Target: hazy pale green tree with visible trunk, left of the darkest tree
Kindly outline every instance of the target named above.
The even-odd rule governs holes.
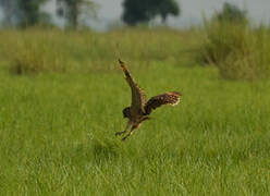
[[[91,0],[57,0],[58,15],[66,20],[68,25],[77,28],[83,16],[96,17],[97,4]]]

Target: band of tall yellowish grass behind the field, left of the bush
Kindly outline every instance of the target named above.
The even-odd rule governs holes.
[[[106,34],[5,30],[0,34],[0,56],[17,74],[102,70],[103,64],[113,69],[112,62],[120,57],[133,62],[148,63],[150,59],[177,64],[187,57],[188,49],[183,46],[194,45],[191,34],[162,28],[123,28]]]

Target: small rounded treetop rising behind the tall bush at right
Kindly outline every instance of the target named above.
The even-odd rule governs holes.
[[[225,2],[223,9],[220,13],[217,13],[217,19],[219,21],[229,21],[229,22],[247,22],[246,17],[247,12],[241,10],[235,4]]]

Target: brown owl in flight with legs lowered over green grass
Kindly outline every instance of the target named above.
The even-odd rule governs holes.
[[[128,119],[127,125],[123,132],[115,133],[115,135],[122,135],[127,132],[130,126],[132,126],[128,134],[122,138],[122,140],[125,140],[127,137],[130,137],[133,134],[133,132],[136,128],[139,127],[139,125],[144,121],[150,119],[149,114],[152,112],[152,110],[155,110],[156,108],[162,105],[171,105],[171,106],[177,105],[182,95],[181,93],[177,93],[177,91],[168,91],[168,93],[155,96],[146,102],[145,93],[134,82],[127,68],[125,66],[125,63],[121,60],[119,60],[119,63],[125,74],[125,79],[128,83],[131,90],[132,90],[132,106],[123,109],[124,118]]]

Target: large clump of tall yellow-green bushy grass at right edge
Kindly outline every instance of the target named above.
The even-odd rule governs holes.
[[[225,78],[257,79],[270,76],[270,35],[265,27],[247,23],[205,23],[206,39],[200,48],[205,62],[214,64]]]

